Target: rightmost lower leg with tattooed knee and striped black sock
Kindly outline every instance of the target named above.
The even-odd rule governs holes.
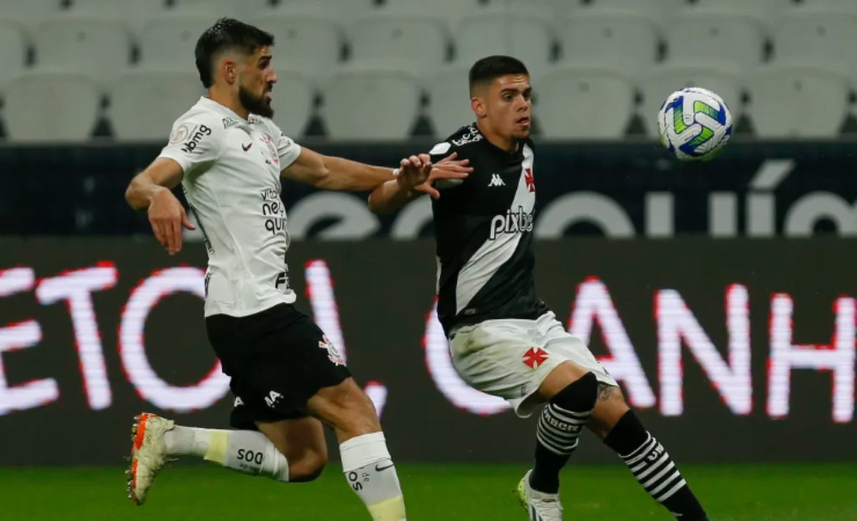
[[[619,387],[601,386],[591,430],[625,460],[645,491],[681,521],[707,521],[703,507],[673,459],[639,421]]]

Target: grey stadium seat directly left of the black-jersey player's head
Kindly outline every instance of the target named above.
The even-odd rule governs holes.
[[[428,121],[434,135],[444,138],[476,117],[470,108],[469,67],[446,69],[431,77],[427,83]]]

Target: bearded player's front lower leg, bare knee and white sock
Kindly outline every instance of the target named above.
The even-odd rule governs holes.
[[[375,521],[405,521],[405,499],[375,405],[351,380],[321,389],[309,399],[314,416],[339,439],[343,472]]]

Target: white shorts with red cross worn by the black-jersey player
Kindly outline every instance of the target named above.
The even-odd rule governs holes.
[[[486,320],[452,333],[452,365],[478,391],[505,398],[521,417],[539,400],[528,399],[562,362],[592,371],[598,381],[617,386],[583,340],[572,337],[553,313],[536,320]]]

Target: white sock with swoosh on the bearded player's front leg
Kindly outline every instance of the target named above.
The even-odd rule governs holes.
[[[374,521],[406,521],[405,499],[384,433],[363,434],[339,446],[342,470]]]

